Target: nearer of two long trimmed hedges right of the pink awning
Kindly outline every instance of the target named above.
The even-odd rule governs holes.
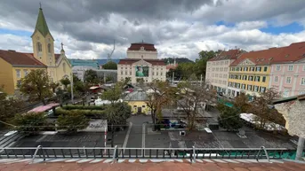
[[[62,108],[56,109],[56,115],[65,115],[68,113],[83,113],[86,117],[94,117],[94,118],[106,118],[106,114],[101,110],[65,110]]]

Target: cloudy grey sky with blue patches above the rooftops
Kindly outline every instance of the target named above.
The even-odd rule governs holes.
[[[303,0],[2,0],[0,49],[32,51],[42,3],[68,58],[125,58],[130,43],[155,43],[159,58],[199,51],[245,51],[305,41]]]

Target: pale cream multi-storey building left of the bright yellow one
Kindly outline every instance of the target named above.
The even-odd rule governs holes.
[[[227,94],[229,65],[241,54],[239,50],[221,51],[216,57],[206,63],[205,82],[211,88]]]

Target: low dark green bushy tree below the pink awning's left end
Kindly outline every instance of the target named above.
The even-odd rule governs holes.
[[[46,125],[46,116],[44,113],[16,114],[13,123],[19,131],[36,134]]]

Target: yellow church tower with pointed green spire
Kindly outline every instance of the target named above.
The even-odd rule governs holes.
[[[31,38],[34,57],[45,66],[48,66],[48,73],[52,76],[53,71],[49,69],[49,66],[55,66],[54,39],[44,19],[44,12],[41,6],[38,12],[35,31]]]

